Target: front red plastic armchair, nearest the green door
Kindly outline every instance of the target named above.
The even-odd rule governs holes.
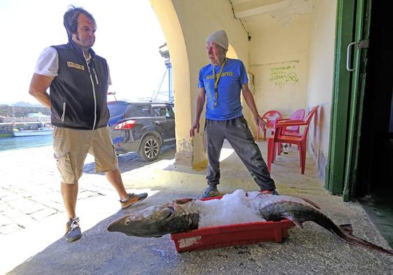
[[[271,170],[272,163],[275,161],[275,151],[278,143],[289,143],[296,144],[299,148],[299,157],[301,162],[301,174],[304,174],[305,169],[305,154],[307,152],[307,136],[308,128],[310,127],[310,122],[312,117],[317,112],[319,106],[312,108],[310,113],[308,113],[305,120],[284,120],[278,121],[275,125],[274,135],[268,140],[268,169]],[[283,132],[285,127],[290,126],[305,126],[303,134],[298,133],[286,133]],[[277,144],[276,144],[277,143]]]

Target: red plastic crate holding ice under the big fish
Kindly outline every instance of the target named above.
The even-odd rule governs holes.
[[[171,234],[171,239],[174,241],[178,253],[225,246],[257,244],[262,241],[280,243],[287,238],[288,229],[293,226],[294,223],[290,220],[220,225]]]

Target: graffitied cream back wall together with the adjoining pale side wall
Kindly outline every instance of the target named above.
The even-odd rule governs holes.
[[[315,0],[312,13],[296,15],[285,25],[270,15],[249,22],[249,69],[254,73],[258,111],[277,110],[285,117],[298,108],[310,111],[319,105],[308,142],[321,178],[329,153],[336,2]]]

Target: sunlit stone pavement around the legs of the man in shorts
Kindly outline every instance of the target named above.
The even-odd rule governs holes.
[[[124,177],[144,166],[173,163],[174,153],[174,146],[166,146],[155,162],[144,162],[137,153],[120,155],[120,171]],[[88,155],[76,209],[83,230],[120,208],[116,192],[104,174],[95,174],[94,169],[94,159]],[[52,146],[0,152],[0,175],[0,274],[3,274],[62,237],[67,216]],[[153,194],[149,190],[130,191]],[[90,209],[96,204],[107,207],[95,213]],[[17,247],[24,242],[31,245],[22,250]]]

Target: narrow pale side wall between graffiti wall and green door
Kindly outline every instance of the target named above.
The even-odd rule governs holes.
[[[337,1],[315,0],[310,17],[307,106],[319,105],[308,136],[310,151],[317,160],[319,175],[329,153],[331,97],[333,92]]]

